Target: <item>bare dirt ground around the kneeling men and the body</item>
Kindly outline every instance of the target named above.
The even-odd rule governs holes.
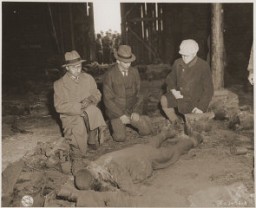
[[[165,119],[157,108],[163,92],[162,84],[161,79],[142,83],[142,90],[148,100],[145,111],[155,124],[155,132],[161,128],[161,122]],[[233,85],[230,90],[239,95],[240,105],[247,106],[245,109],[253,114],[252,91],[244,92],[243,86],[239,84]],[[17,100],[17,96],[12,97],[8,93],[8,96],[3,96],[3,101],[8,105],[3,107],[2,117],[2,172],[21,158],[25,161],[14,185],[14,193],[4,205],[22,206],[21,198],[31,195],[34,198],[33,206],[44,206],[45,199],[49,198],[52,201],[48,200],[48,206],[74,206],[72,202],[54,199],[54,191],[70,175],[61,173],[54,167],[42,169],[34,154],[38,142],[56,142],[62,137],[52,108],[45,107],[46,97],[52,91],[51,81],[44,84],[41,90],[31,91],[34,99],[30,100],[28,106],[24,102],[20,108],[13,108],[16,106],[13,100]],[[25,94],[23,101],[28,100],[27,97],[31,97],[31,93]],[[25,112],[24,109],[28,110]],[[202,144],[183,155],[174,165],[154,171],[150,178],[136,184],[142,196],[133,197],[122,206],[254,207],[253,129],[230,129],[228,119],[213,119],[210,126],[210,131],[202,133]],[[115,143],[110,139],[97,151],[89,150],[88,158],[96,159],[106,152],[136,143],[146,143],[148,140],[131,128],[127,128],[127,131],[129,136],[125,143]],[[232,144],[246,148],[246,153],[231,154]]]

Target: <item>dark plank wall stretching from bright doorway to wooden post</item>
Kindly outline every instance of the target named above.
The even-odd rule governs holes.
[[[137,62],[172,63],[185,38],[195,39],[199,56],[206,59],[210,4],[122,3],[121,7],[124,43],[132,46]]]

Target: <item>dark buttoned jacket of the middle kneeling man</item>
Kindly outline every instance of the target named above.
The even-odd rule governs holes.
[[[110,119],[124,114],[141,113],[140,76],[136,68],[130,67],[124,77],[117,65],[106,72],[103,81],[103,101]]]

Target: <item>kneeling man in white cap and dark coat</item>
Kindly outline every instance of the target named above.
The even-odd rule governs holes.
[[[203,113],[207,111],[213,96],[210,66],[197,56],[195,40],[183,40],[171,73],[167,76],[167,93],[161,97],[161,106],[172,123],[178,121],[177,112]]]

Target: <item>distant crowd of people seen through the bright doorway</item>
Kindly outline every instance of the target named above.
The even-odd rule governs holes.
[[[117,31],[112,32],[111,29],[104,32],[101,31],[96,35],[96,59],[99,64],[112,64],[115,60],[114,51],[117,51],[121,44],[121,35]]]

